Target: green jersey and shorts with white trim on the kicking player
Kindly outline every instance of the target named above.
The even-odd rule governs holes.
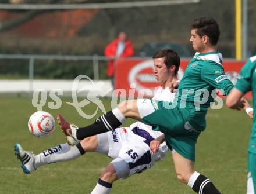
[[[205,129],[205,115],[216,96],[212,91],[222,89],[223,94],[228,94],[232,88],[223,70],[221,53],[195,53],[173,103],[151,99],[137,101],[137,107],[144,123],[159,127],[165,134],[168,148],[195,161],[195,144]]]

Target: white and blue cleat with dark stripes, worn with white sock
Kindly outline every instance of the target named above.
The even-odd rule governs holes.
[[[22,163],[23,172],[30,174],[33,171],[37,170],[34,167],[34,154],[32,152],[25,151],[20,144],[14,145],[15,155],[17,159]]]

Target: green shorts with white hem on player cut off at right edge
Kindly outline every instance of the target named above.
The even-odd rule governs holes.
[[[253,181],[254,191],[256,189],[256,154],[253,152],[248,152],[248,182]],[[250,183],[249,183],[250,184]]]

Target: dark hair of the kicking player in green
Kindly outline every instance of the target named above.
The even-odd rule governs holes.
[[[219,41],[219,24],[212,17],[200,17],[194,19],[191,23],[191,29],[197,29],[197,34],[202,36],[207,35],[210,39],[210,43],[215,46]]]

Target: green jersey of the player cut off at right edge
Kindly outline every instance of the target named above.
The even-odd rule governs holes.
[[[234,87],[243,94],[247,91],[253,92],[253,108],[256,109],[256,56],[251,57],[240,71],[240,77]],[[253,127],[251,129],[251,139],[248,151],[256,153],[256,119],[255,111],[253,117]]]

